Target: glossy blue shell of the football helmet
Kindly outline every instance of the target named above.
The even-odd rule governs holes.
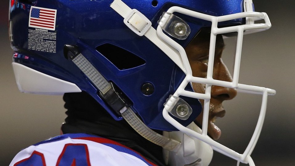
[[[181,6],[214,16],[243,12],[242,0],[123,0],[123,2],[131,9],[143,13],[152,21],[154,28],[157,27],[157,21],[162,13],[172,6]],[[72,61],[64,58],[64,45],[76,45],[102,76],[114,83],[127,96],[131,101],[131,108],[148,127],[165,131],[177,130],[163,118],[162,110],[166,99],[175,92],[185,73],[146,37],[132,32],[123,23],[123,18],[110,8],[111,3],[112,0],[15,1],[10,8],[13,34],[11,45],[19,56],[14,57],[14,61],[76,84],[99,102],[114,119],[121,120],[122,117],[99,97],[98,89],[85,74]],[[56,53],[28,48],[28,31],[35,29],[28,27],[31,6],[56,9],[54,31]],[[191,34],[187,39],[175,39],[183,47],[186,47],[202,27],[211,24],[205,20],[177,13],[175,15],[184,19],[191,28]],[[222,23],[220,26],[243,24],[243,22],[244,19],[241,18]],[[118,66],[118,63],[120,64],[118,59],[122,60],[123,66]],[[142,91],[143,85],[147,83],[154,89],[148,95]],[[187,90],[193,91],[190,85],[187,86]],[[181,98],[193,109],[189,119],[177,119],[182,125],[187,126],[201,113],[202,106],[197,99]]]

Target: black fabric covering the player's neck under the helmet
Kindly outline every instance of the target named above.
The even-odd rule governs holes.
[[[165,166],[162,147],[143,138],[125,120],[114,120],[86,92],[65,93],[64,101],[68,115],[61,127],[64,134],[86,133],[111,139],[139,152],[147,160]]]

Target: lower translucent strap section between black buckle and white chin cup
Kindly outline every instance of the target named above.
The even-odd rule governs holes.
[[[136,131],[138,132],[143,138],[155,143],[168,151],[177,151],[180,147],[181,143],[160,135],[147,127],[131,110],[130,107],[123,107],[120,110],[123,118],[127,121],[127,123]]]

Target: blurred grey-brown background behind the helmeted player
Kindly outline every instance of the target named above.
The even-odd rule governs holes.
[[[239,83],[276,89],[260,139],[252,153],[257,166],[295,165],[295,1],[253,0],[256,11],[272,22],[268,31],[244,36]],[[9,165],[23,148],[60,134],[65,109],[62,96],[20,93],[11,67],[13,51],[8,38],[9,1],[0,6],[0,165]],[[235,38],[225,39],[223,60],[231,70]],[[217,120],[220,143],[242,153],[254,131],[260,95],[239,94],[225,102],[226,116]],[[235,160],[214,152],[210,164],[236,165]],[[241,164],[246,165],[246,164]]]

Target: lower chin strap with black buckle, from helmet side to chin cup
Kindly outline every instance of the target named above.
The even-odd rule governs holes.
[[[108,103],[113,110],[119,110],[118,114],[122,115],[135,131],[143,136],[143,138],[167,149],[168,151],[178,150],[181,145],[179,141],[160,135],[147,127],[129,107],[127,99],[118,92],[118,89],[116,89],[112,83],[108,82],[81,53],[73,50],[74,49],[70,49],[70,51],[67,51],[66,55],[74,52],[73,56],[70,54],[69,58],[99,89],[99,95],[105,100],[105,102]]]

